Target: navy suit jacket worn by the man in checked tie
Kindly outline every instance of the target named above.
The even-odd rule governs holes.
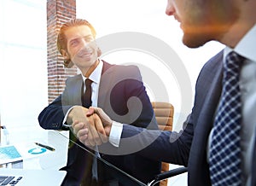
[[[165,160],[173,164],[188,166],[188,182],[192,186],[211,185],[207,164],[207,141],[212,130],[214,113],[222,90],[223,51],[215,55],[202,68],[195,86],[195,103],[192,113],[184,123],[184,131],[145,131],[143,143],[148,137],[159,136],[148,148],[139,153],[153,160]],[[125,125],[122,137],[131,137],[142,133],[142,129]],[[137,140],[140,142],[139,140]],[[120,143],[121,148],[125,143]],[[123,147],[122,147],[123,146]],[[256,143],[254,155],[256,155]],[[252,176],[255,186],[256,159],[253,158]]]

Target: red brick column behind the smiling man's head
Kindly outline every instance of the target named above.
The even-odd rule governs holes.
[[[47,0],[47,63],[48,101],[52,102],[65,88],[68,76],[77,73],[75,67],[63,66],[63,58],[56,46],[57,33],[61,24],[76,18],[76,0]]]

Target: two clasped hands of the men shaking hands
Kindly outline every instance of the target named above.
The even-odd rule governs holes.
[[[113,120],[102,108],[74,107],[68,114],[73,133],[86,146],[96,146],[108,142]]]

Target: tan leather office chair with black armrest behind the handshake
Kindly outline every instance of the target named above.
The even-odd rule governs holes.
[[[151,102],[154,109],[155,119],[160,130],[172,131],[172,122],[174,107],[169,102]],[[169,171],[169,163],[162,162],[161,173],[148,183],[148,186],[153,186],[155,183],[160,183],[160,186],[167,186],[169,177],[174,177],[178,174],[188,171],[187,167],[179,167]]]

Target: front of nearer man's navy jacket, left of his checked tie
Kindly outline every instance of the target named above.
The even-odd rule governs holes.
[[[195,105],[189,121],[195,125],[195,134],[189,154],[189,183],[191,185],[208,185],[210,182],[207,142],[222,90],[222,61],[222,52],[208,61],[196,85],[197,95],[195,95]]]

